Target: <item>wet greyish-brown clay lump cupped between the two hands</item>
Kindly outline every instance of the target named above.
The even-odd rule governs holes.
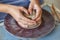
[[[23,13],[23,12],[22,12]],[[41,14],[40,14],[41,15]],[[24,17],[26,17],[26,18],[28,18],[28,19],[30,19],[30,20],[33,20],[33,19],[35,19],[35,17],[36,17],[36,11],[35,10],[33,10],[33,12],[30,14],[30,15],[27,15],[26,13],[23,13],[23,16]],[[34,25],[28,25],[28,27],[23,27],[23,28],[26,28],[26,29],[33,29],[33,28],[37,28],[37,27],[39,27],[40,26],[40,24],[41,24],[41,19],[39,20],[39,22],[36,22],[36,24],[34,24]],[[24,24],[23,24],[24,25]],[[22,26],[21,26],[22,27]]]

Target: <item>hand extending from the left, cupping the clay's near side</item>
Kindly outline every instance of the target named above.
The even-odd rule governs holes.
[[[8,5],[8,13],[17,21],[20,26],[28,28],[28,25],[36,24],[35,21],[24,17],[21,11],[25,12],[28,15],[28,11],[24,7]]]

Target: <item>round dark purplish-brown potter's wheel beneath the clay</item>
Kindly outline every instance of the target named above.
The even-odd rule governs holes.
[[[55,21],[49,12],[43,9],[42,11],[42,24],[35,29],[21,28],[10,15],[5,18],[5,28],[8,32],[18,37],[35,38],[45,36],[54,29]]]

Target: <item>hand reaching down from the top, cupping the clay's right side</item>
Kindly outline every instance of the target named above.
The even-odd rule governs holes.
[[[36,22],[41,22],[42,9],[38,0],[31,0],[28,11],[31,14],[33,10],[36,10],[36,17],[33,20]]]

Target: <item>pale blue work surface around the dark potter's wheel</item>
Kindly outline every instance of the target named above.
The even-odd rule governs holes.
[[[50,12],[49,7],[45,6],[44,9]],[[0,40],[22,40],[22,39],[16,38],[11,34],[9,34],[4,28],[4,22],[2,22],[0,23]],[[55,25],[55,29],[45,37],[37,38],[37,39],[27,38],[23,40],[60,40],[60,23],[57,23]]]

